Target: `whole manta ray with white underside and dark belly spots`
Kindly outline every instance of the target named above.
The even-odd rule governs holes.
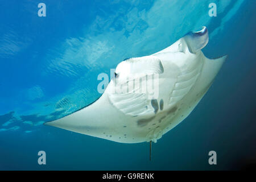
[[[188,117],[224,63],[226,56],[204,56],[208,39],[203,27],[153,55],[122,61],[97,101],[45,125],[121,143],[156,142]],[[158,96],[141,92],[154,79]]]

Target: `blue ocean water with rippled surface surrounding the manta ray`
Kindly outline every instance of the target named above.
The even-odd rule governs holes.
[[[1,170],[240,169],[256,161],[254,0],[0,2]],[[217,16],[209,16],[209,3]],[[158,143],[125,144],[43,123],[98,97],[99,73],[207,26],[209,58],[228,55],[208,93]],[[38,164],[38,151],[47,164]],[[210,166],[208,152],[217,152]]]

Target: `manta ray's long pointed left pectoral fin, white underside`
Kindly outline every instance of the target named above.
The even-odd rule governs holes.
[[[63,118],[46,122],[44,125],[115,142],[144,142],[143,134],[130,129],[131,117],[125,117],[122,112],[109,103],[107,90],[111,86],[113,85],[110,82],[102,96],[93,104]]]

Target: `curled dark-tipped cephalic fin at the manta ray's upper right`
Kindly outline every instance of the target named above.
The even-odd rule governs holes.
[[[207,27],[203,27],[202,30],[197,32],[189,32],[184,36],[184,40],[187,43],[189,52],[196,53],[208,44],[209,35]]]

